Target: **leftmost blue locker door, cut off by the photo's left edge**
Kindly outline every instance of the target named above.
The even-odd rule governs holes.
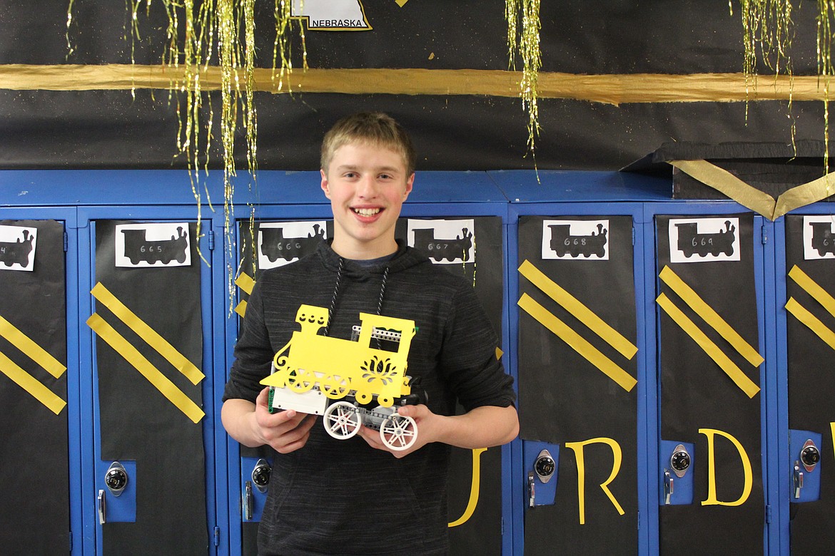
[[[0,545],[7,554],[82,549],[78,365],[68,350],[76,338],[67,285],[74,220],[68,209],[0,209]]]

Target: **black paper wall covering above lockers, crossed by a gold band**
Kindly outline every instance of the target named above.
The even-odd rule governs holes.
[[[0,5],[0,64],[130,63],[124,2],[14,0]],[[168,20],[162,3],[144,3],[134,61],[160,63]],[[507,69],[502,0],[362,0],[373,30],[306,32],[311,68]],[[261,67],[271,66],[272,2],[256,2]],[[816,71],[815,5],[798,4],[794,73]],[[544,72],[738,73],[743,63],[741,8],[726,0],[559,0],[542,3]],[[293,33],[294,66],[301,44]],[[772,73],[760,68],[762,74]],[[215,120],[219,93],[212,93]],[[411,132],[418,169],[533,168],[526,155],[527,116],[515,98],[439,95],[256,93],[262,169],[316,169],[322,133],[361,109],[391,113]],[[632,103],[611,106],[540,99],[540,169],[615,170],[668,142],[790,142],[823,137],[822,102]],[[175,158],[175,108],[166,91],[0,90],[2,168],[183,168]],[[215,133],[215,136],[218,136]],[[242,143],[242,142],[240,142]],[[213,153],[220,165],[220,153]],[[245,153],[237,153],[245,167]]]

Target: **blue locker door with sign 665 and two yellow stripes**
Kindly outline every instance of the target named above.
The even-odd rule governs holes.
[[[116,219],[125,214],[135,219]],[[216,550],[211,279],[200,261],[210,234],[199,240],[192,217],[190,208],[88,213],[82,319],[94,380],[97,553]]]

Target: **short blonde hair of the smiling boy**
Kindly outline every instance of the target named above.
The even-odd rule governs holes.
[[[321,142],[321,169],[327,172],[333,153],[347,143],[367,143],[399,154],[406,165],[406,175],[415,171],[417,153],[412,139],[394,118],[382,112],[361,112],[342,118],[325,133]]]

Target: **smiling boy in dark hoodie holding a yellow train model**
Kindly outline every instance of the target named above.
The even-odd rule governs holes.
[[[252,291],[221,417],[238,442],[277,452],[258,531],[262,555],[445,554],[450,446],[497,446],[518,433],[513,380],[472,286],[394,237],[415,161],[407,133],[387,115],[337,122],[321,148],[332,241],[261,273]],[[267,410],[260,381],[296,330],[302,303],[328,308],[334,338],[350,338],[359,313],[415,322],[408,374],[428,402],[398,409],[417,423],[410,448],[393,451],[365,427],[337,440],[314,426],[316,416]],[[456,402],[465,413],[455,414]]]

